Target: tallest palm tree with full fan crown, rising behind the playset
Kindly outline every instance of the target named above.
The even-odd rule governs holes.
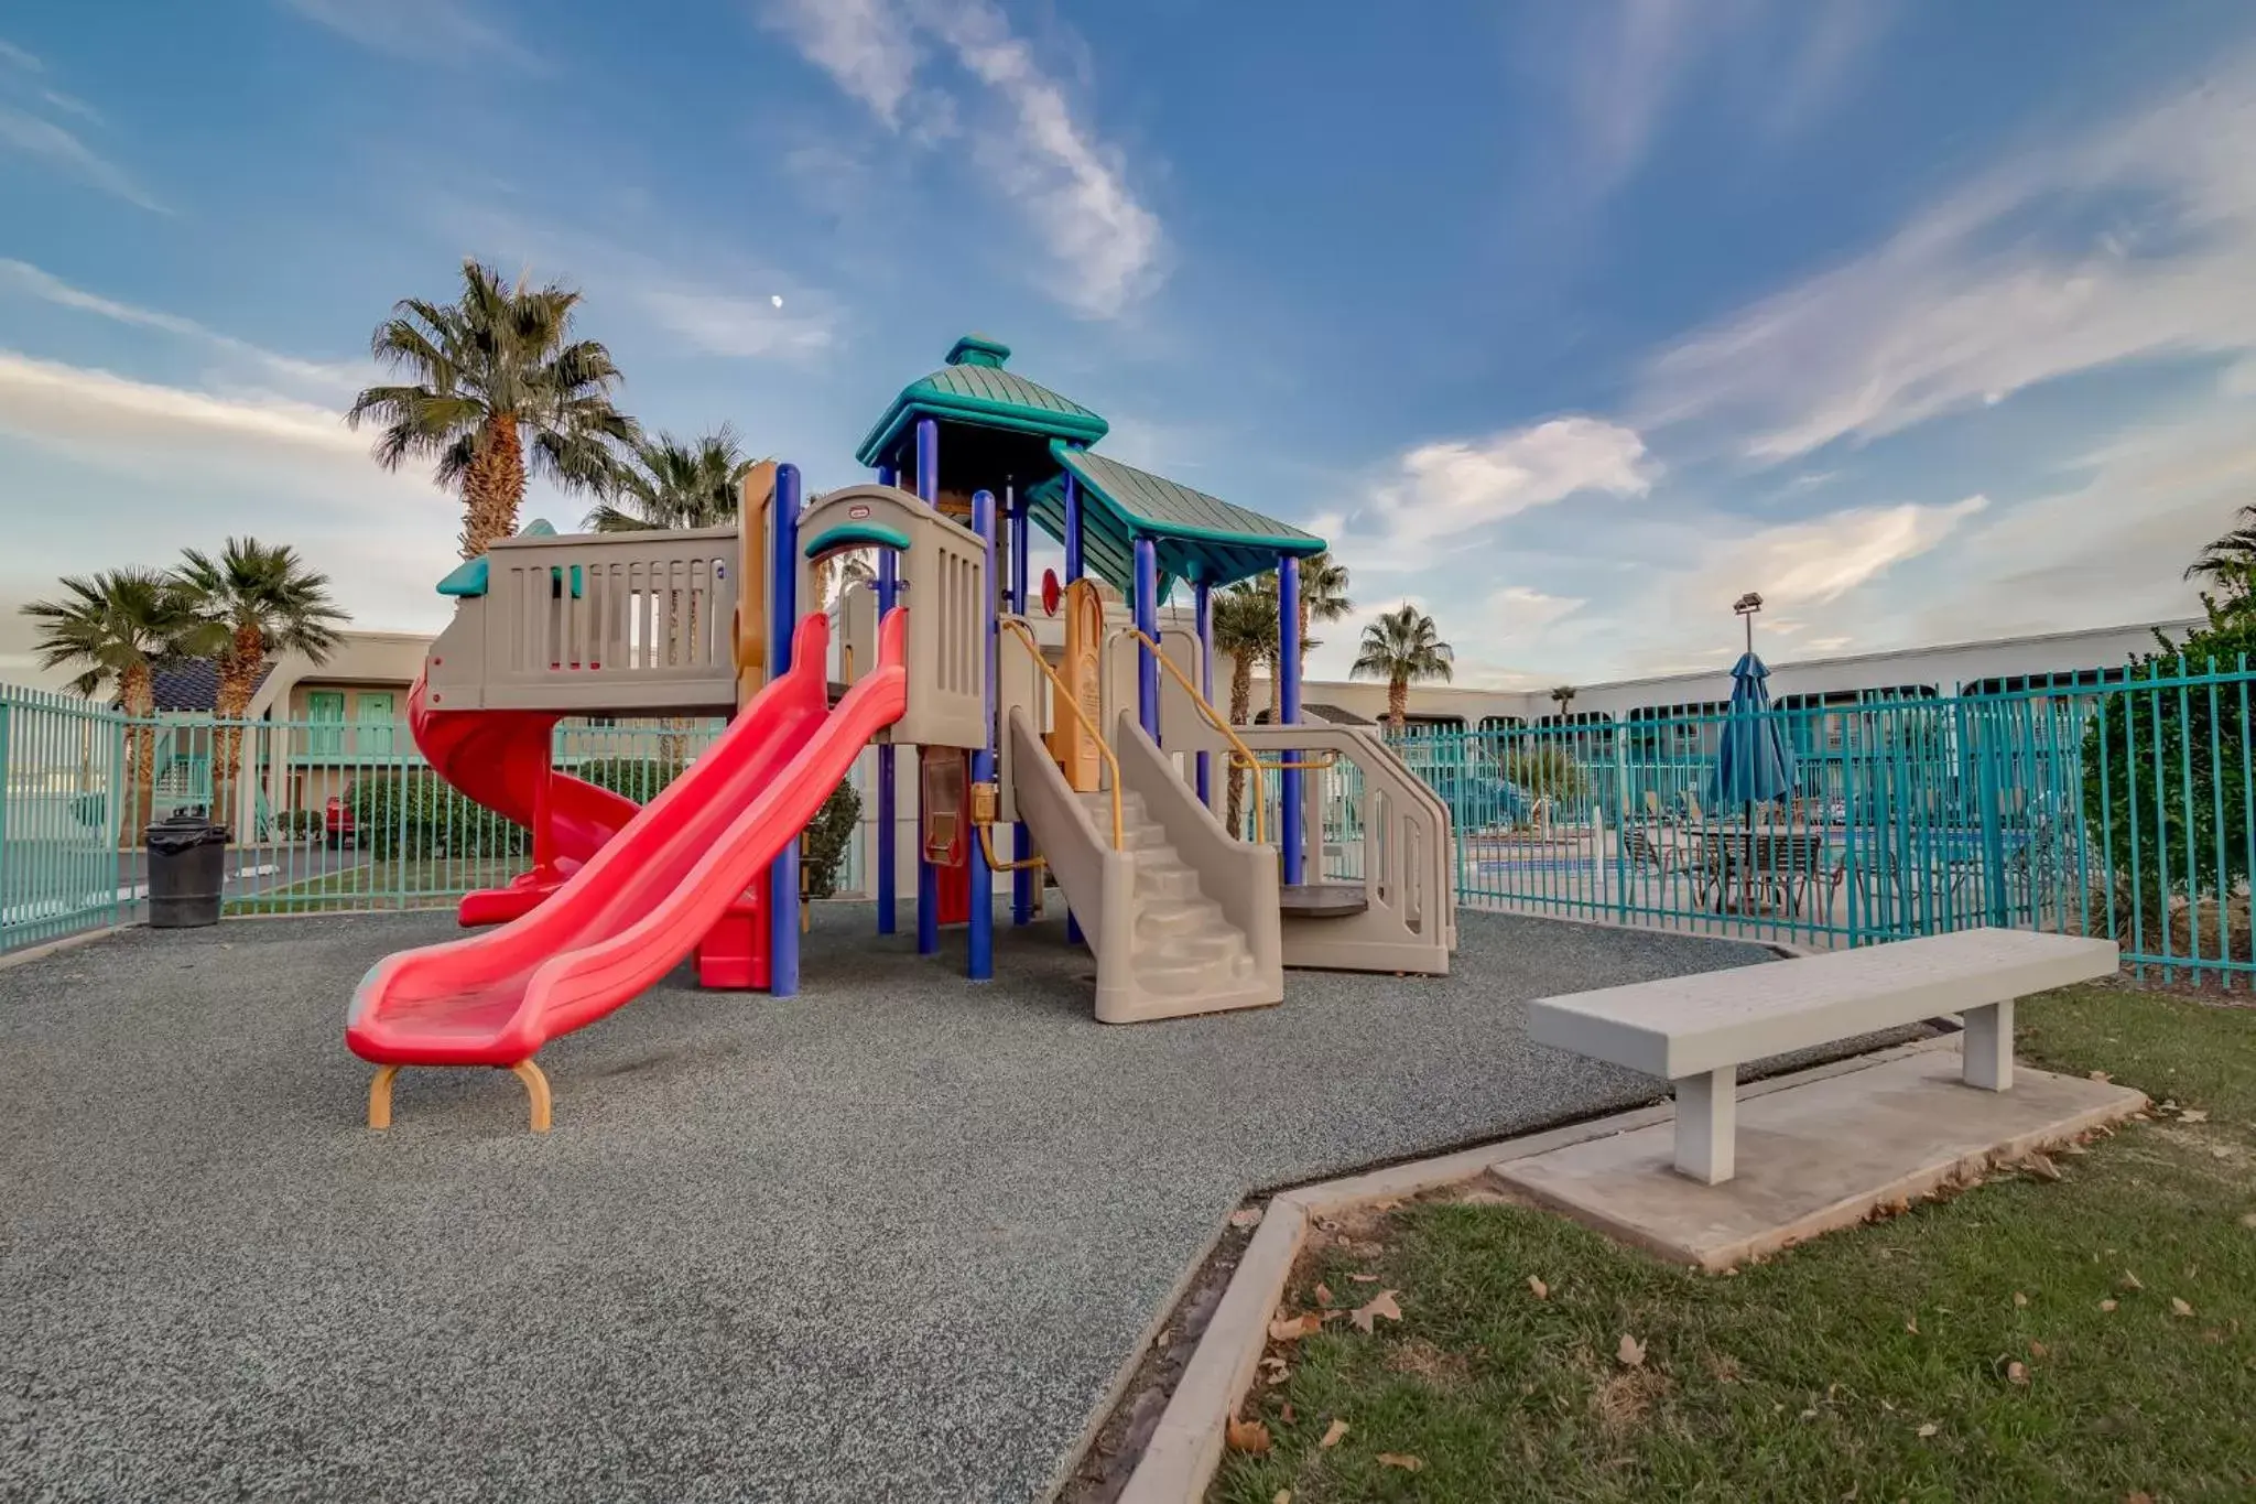
[[[429,458],[440,485],[462,489],[465,559],[517,532],[528,465],[566,492],[600,494],[616,449],[641,437],[611,406],[611,352],[571,338],[578,304],[575,289],[505,286],[490,266],[462,262],[458,302],[402,298],[370,338],[377,363],[408,381],[363,390],[345,422],[384,424],[384,469]]]

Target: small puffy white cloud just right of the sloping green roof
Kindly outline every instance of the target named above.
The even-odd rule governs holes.
[[[1410,550],[1577,494],[1642,496],[1658,467],[1636,431],[1602,417],[1554,417],[1487,440],[1405,451],[1354,519],[1381,550]]]

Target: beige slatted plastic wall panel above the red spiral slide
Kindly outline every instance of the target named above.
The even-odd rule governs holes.
[[[431,645],[447,710],[733,715],[735,528],[501,539]],[[578,570],[580,591],[571,589]]]

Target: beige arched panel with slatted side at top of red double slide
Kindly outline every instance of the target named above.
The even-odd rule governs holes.
[[[893,528],[909,539],[900,557],[900,604],[909,609],[909,708],[882,737],[918,746],[986,746],[990,645],[981,602],[993,589],[986,541],[891,485],[826,492],[799,514],[801,548],[848,523]],[[799,559],[799,598],[814,600],[814,566]]]

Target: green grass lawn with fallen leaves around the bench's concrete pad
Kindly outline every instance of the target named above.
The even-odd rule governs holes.
[[[2021,1019],[2024,1060],[2154,1121],[1730,1276],[1478,1191],[1313,1238],[1281,1315],[1401,1319],[1272,1344],[1241,1412],[1270,1450],[1209,1497],[2256,1499],[2256,1010]]]

